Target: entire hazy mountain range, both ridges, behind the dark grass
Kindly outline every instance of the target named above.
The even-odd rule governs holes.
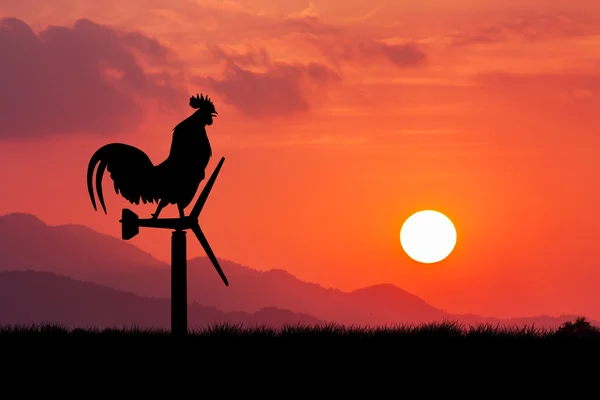
[[[258,271],[219,262],[229,287],[206,257],[188,260],[190,326],[382,325],[450,319],[556,327],[576,317],[499,320],[453,315],[391,284],[343,292],[301,281],[284,270]],[[31,214],[0,216],[0,324],[44,320],[168,327],[169,296],[170,266],[130,243],[81,225],[49,226]]]

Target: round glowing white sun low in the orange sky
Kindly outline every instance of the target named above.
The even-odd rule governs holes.
[[[454,250],[456,228],[450,218],[438,211],[419,211],[402,225],[400,244],[413,260],[433,264],[444,260]]]

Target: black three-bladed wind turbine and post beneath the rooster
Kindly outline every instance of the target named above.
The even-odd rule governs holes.
[[[124,208],[121,220],[119,221],[121,223],[121,236],[123,240],[129,240],[136,236],[140,232],[141,227],[173,230],[171,235],[171,333],[173,335],[185,336],[188,332],[186,230],[190,229],[194,233],[223,280],[223,283],[225,283],[225,286],[229,286],[227,277],[221,269],[219,261],[210,248],[208,240],[204,236],[198,222],[200,212],[204,207],[204,203],[206,203],[206,199],[208,199],[208,195],[212,190],[224,161],[225,157],[222,157],[206,182],[204,189],[202,189],[200,196],[198,196],[198,200],[194,204],[190,215],[182,218],[140,219],[136,213]]]

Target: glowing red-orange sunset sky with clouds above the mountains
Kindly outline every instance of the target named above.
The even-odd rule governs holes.
[[[120,237],[131,205],[106,190],[93,210],[92,153],[162,161],[208,93],[219,257],[451,312],[600,318],[597,1],[0,0],[0,17],[0,214]],[[458,230],[430,266],[398,239],[424,208]],[[168,260],[169,235],[131,242]]]

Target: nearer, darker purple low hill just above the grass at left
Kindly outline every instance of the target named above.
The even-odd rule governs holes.
[[[58,323],[70,327],[169,329],[168,298],[147,298],[51,272],[0,272],[0,325]],[[190,328],[215,323],[267,325],[321,324],[316,318],[274,307],[256,313],[224,313],[197,303],[188,307]]]

